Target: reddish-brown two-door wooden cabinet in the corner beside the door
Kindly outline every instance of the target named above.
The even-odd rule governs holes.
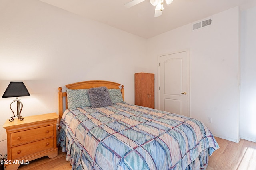
[[[135,104],[155,107],[155,75],[152,73],[135,73]]]

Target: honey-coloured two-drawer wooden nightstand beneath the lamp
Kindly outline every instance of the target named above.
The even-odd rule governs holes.
[[[58,156],[56,124],[58,115],[48,113],[7,120],[3,127],[7,133],[6,170],[16,170],[20,164],[43,156]]]

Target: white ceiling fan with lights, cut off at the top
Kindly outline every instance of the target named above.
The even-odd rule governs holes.
[[[145,0],[132,0],[131,2],[124,4],[124,6],[127,8],[131,8],[132,6],[137,5],[143,1]],[[169,5],[172,3],[173,0],[165,0],[165,1],[166,1],[166,4]],[[164,9],[164,0],[150,0],[150,4],[153,6],[156,6],[155,17],[162,15],[163,9]]]

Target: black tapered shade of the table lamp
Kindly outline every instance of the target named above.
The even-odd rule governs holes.
[[[2,98],[30,96],[28,89],[23,82],[10,82]]]

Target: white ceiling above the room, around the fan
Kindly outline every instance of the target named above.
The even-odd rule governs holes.
[[[132,8],[131,0],[40,0],[85,18],[96,20],[134,35],[150,38],[218,12],[240,6],[256,6],[256,0],[174,0],[164,3],[161,16],[154,17],[154,6],[145,0]]]

